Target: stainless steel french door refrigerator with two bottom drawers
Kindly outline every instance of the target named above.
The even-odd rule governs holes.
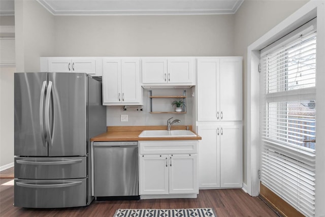
[[[15,73],[14,80],[14,205],[89,205],[89,139],[106,131],[101,82],[85,73]]]

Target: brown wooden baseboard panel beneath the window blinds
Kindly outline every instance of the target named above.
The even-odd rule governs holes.
[[[301,212],[288,204],[261,182],[259,183],[259,196],[261,196],[270,206],[276,209],[282,216],[304,217]]]

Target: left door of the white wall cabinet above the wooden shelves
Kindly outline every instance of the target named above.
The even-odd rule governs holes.
[[[143,58],[142,83],[167,83],[167,58]]]

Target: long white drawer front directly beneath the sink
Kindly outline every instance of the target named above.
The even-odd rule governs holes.
[[[197,153],[198,141],[140,141],[140,154]]]

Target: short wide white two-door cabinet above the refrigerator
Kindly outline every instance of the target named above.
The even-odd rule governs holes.
[[[102,61],[97,57],[41,57],[42,72],[76,72],[102,76]]]

